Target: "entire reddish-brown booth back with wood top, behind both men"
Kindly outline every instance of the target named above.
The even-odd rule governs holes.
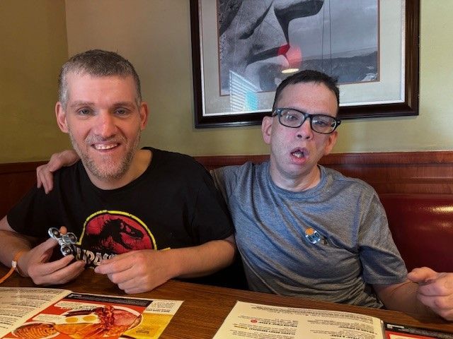
[[[267,158],[267,155],[248,155],[197,157],[197,160],[212,169]],[[379,192],[394,241],[408,270],[428,266],[453,272],[452,151],[334,154],[324,161],[345,175],[365,180]],[[34,184],[35,168],[43,163],[0,164],[1,215]],[[406,193],[384,193],[400,191]],[[240,258],[236,258],[233,266],[206,280],[205,283],[214,285],[246,288]]]

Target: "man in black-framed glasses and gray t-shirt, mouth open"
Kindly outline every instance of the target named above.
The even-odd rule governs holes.
[[[334,79],[295,73],[261,125],[270,160],[212,172],[249,287],[452,320],[453,274],[408,274],[374,189],[318,165],[336,143],[338,105]]]

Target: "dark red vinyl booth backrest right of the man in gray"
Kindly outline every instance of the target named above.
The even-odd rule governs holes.
[[[380,194],[408,270],[453,272],[453,194]]]

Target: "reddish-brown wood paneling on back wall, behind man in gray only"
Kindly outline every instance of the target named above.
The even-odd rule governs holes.
[[[208,169],[262,162],[268,155],[195,157]],[[321,159],[348,177],[364,180],[377,193],[453,194],[453,151],[335,153]]]

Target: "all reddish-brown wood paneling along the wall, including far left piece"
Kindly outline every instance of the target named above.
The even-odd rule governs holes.
[[[207,169],[262,162],[268,155],[195,157]],[[36,182],[35,169],[45,162],[0,164],[0,218]],[[357,177],[383,193],[453,194],[453,151],[335,153],[321,165]]]

